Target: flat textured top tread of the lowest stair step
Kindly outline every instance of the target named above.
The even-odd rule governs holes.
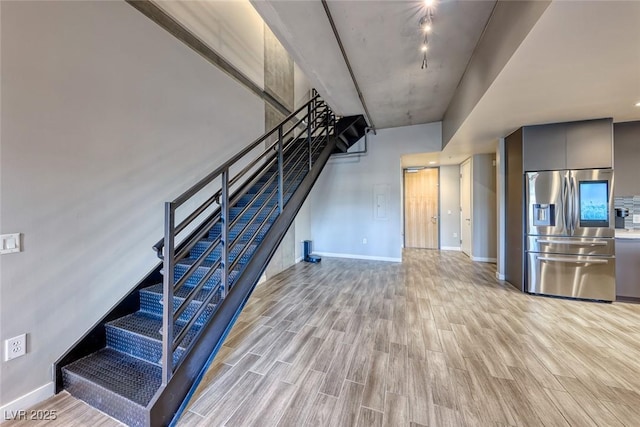
[[[160,387],[162,377],[158,365],[110,348],[98,350],[63,370],[145,407]]]

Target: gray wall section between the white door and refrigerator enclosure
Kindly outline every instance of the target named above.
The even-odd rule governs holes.
[[[496,156],[477,154],[471,159],[473,237],[471,258],[476,261],[496,261],[497,257],[497,202]]]

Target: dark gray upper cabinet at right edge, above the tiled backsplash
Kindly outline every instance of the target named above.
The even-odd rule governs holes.
[[[640,122],[614,123],[613,162],[614,194],[618,197],[640,194]]]

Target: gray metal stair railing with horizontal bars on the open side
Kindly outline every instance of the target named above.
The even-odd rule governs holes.
[[[298,118],[298,115],[306,109],[306,112],[302,118],[299,118],[296,123],[291,124],[293,119]],[[162,384],[166,385],[171,380],[173,372],[179,366],[180,361],[174,361],[174,351],[180,345],[180,342],[186,337],[190,328],[195,324],[198,318],[204,314],[204,310],[208,304],[212,301],[214,294],[220,292],[220,298],[224,299],[226,293],[229,291],[229,274],[232,271],[231,268],[236,265],[239,258],[236,258],[233,263],[229,262],[230,249],[236,242],[232,242],[229,239],[230,231],[230,215],[229,209],[231,207],[230,202],[237,202],[239,197],[248,191],[258,179],[265,173],[267,168],[273,167],[277,164],[277,204],[269,211],[269,215],[272,215],[274,209],[277,208],[277,213],[281,213],[284,207],[284,152],[290,148],[293,148],[296,140],[295,135],[285,141],[295,129],[299,127],[303,128],[302,134],[306,132],[304,139],[306,140],[304,149],[308,150],[308,167],[311,170],[312,158],[314,154],[313,144],[318,138],[329,137],[331,126],[335,127],[335,116],[329,109],[329,107],[321,100],[317,93],[313,93],[311,99],[295,110],[289,116],[287,116],[282,122],[275,126],[264,135],[260,136],[245,148],[240,150],[237,154],[231,157],[229,160],[218,166],[214,171],[207,174],[204,178],[199,180],[196,184],[191,186],[188,190],[177,196],[171,202],[165,202],[164,213],[164,238],[156,243],[153,247],[156,250],[158,256],[163,260],[163,310],[162,310]],[[285,131],[285,127],[291,126]],[[249,153],[251,153],[259,144],[268,140],[268,138],[277,135],[277,139],[268,144],[268,146],[260,154],[256,156],[252,161],[242,169],[235,173],[233,177],[230,176],[230,169],[240,160],[244,159]],[[302,145],[298,144],[298,150],[302,149]],[[308,147],[308,148],[307,148]],[[304,153],[304,151],[302,152]],[[264,164],[258,168],[260,161],[264,161]],[[238,184],[247,173],[254,171],[253,177],[250,177],[240,184],[240,188],[236,189],[238,196],[231,199],[231,187],[234,184]],[[291,173],[289,171],[288,173]],[[195,195],[199,194],[209,184],[212,184],[216,179],[220,179],[220,189],[213,192],[212,195],[206,198],[204,202],[201,202],[193,211],[187,215],[179,224],[176,224],[176,210],[192,199]],[[273,178],[272,178],[273,179]],[[275,189],[274,189],[275,191]],[[214,214],[210,214],[208,218],[204,219],[201,223],[196,223],[196,219],[200,217],[209,207],[214,203],[218,204],[218,209]],[[238,217],[236,217],[237,220]],[[197,243],[207,232],[208,228],[213,226],[216,222],[220,221],[221,234],[215,240],[220,243],[221,256],[220,259],[213,265],[204,277],[198,279],[198,284],[189,292],[187,297],[177,307],[174,306],[174,292],[185,284],[186,280],[201,266],[205,259],[213,252],[217,243],[212,243],[208,249],[206,249],[198,259],[187,268],[184,275],[178,280],[174,279],[174,270],[176,263],[187,254],[193,245]],[[234,220],[235,221],[235,220]],[[263,223],[264,224],[264,223]],[[192,231],[192,236],[183,239],[178,247],[176,245],[176,238],[179,233],[186,230],[189,226],[195,226],[195,231]],[[261,225],[260,227],[262,227]],[[245,225],[246,227],[246,225]],[[257,234],[256,234],[257,235]],[[256,235],[252,236],[253,241]],[[241,254],[244,254],[247,247],[243,248]],[[176,252],[177,251],[177,252]],[[195,294],[204,288],[204,285],[212,277],[217,269],[220,269],[220,282],[215,289],[209,291],[209,296],[201,303],[201,306],[196,312],[191,315],[185,325],[182,325],[181,330],[174,331],[174,324],[178,317],[185,312],[186,304],[192,301]],[[186,304],[185,304],[186,303]],[[192,344],[195,339],[192,340]],[[186,349],[185,354],[189,351],[191,346]],[[184,355],[183,358],[184,359]]]

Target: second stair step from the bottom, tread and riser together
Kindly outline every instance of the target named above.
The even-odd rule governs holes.
[[[105,328],[107,347],[160,366],[162,358],[161,317],[137,311],[107,323]],[[173,353],[174,363],[180,360],[199,329],[199,325],[191,327]],[[181,330],[182,324],[176,323],[173,328],[174,336],[179,334]]]

